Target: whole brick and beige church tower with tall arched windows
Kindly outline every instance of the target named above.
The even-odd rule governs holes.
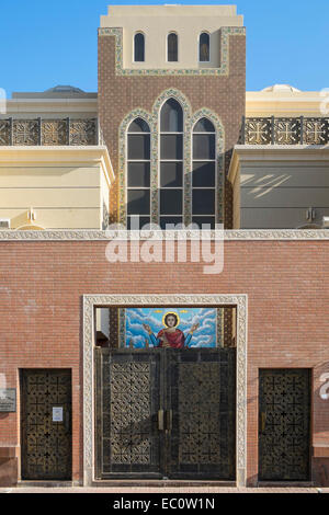
[[[111,5],[99,31],[99,116],[116,182],[110,220],[232,225],[227,172],[246,98],[234,5]]]

